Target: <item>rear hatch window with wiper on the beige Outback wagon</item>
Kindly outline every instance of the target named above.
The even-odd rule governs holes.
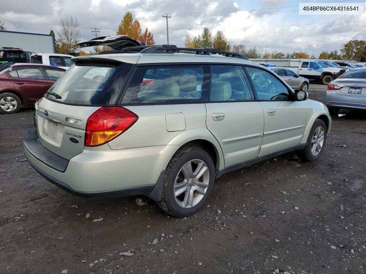
[[[45,97],[81,106],[116,104],[132,66],[129,63],[77,62],[52,85]]]

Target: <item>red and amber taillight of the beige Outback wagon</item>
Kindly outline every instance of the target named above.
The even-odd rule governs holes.
[[[86,121],[85,146],[103,145],[129,129],[138,116],[124,107],[101,107]]]

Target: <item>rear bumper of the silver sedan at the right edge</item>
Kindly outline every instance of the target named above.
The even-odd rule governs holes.
[[[337,94],[335,91],[328,91],[325,98],[325,105],[340,109],[366,109],[366,96],[343,95]]]

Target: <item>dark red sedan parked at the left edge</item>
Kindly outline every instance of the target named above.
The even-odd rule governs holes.
[[[0,113],[12,114],[33,106],[65,72],[40,64],[0,64]]]

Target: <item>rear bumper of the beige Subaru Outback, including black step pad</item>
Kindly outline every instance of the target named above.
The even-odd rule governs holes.
[[[82,197],[122,197],[151,195],[153,190],[159,192],[156,186],[160,185],[166,161],[176,149],[176,146],[153,146],[112,150],[107,145],[108,150],[85,148],[67,160],[44,148],[37,138],[36,128],[28,130],[24,137],[23,150],[30,165],[49,182]],[[29,142],[37,149],[30,147]]]

